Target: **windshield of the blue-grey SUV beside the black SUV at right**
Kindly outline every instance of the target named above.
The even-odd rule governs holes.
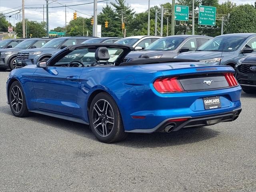
[[[200,46],[197,51],[232,52],[236,51],[245,40],[246,37],[220,36],[209,40]]]

